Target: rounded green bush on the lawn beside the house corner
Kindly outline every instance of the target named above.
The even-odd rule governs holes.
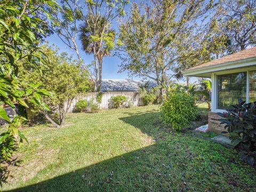
[[[197,117],[198,110],[194,97],[187,92],[173,91],[165,95],[161,113],[165,123],[171,124],[173,130],[180,131]]]

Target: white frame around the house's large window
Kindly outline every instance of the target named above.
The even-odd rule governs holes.
[[[212,111],[213,112],[224,112],[226,111],[225,109],[218,109],[218,79],[217,76],[218,75],[227,75],[227,74],[234,74],[234,73],[242,73],[242,72],[246,72],[246,102],[249,102],[249,71],[254,71],[256,70],[256,66],[252,66],[252,67],[247,67],[247,68],[238,68],[238,69],[227,69],[227,70],[223,70],[223,71],[218,71],[215,73],[212,73]]]

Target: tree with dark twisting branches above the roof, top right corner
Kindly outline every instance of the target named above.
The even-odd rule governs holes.
[[[211,22],[218,28],[215,37],[227,39],[226,54],[256,45],[256,1],[223,0]]]

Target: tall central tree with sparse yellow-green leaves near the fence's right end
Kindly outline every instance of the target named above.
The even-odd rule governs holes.
[[[193,54],[189,47],[196,20],[212,6],[213,1],[204,0],[152,0],[143,7],[134,3],[130,18],[119,27],[120,71],[153,79],[163,87],[178,61]]]

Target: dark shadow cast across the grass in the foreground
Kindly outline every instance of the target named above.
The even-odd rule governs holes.
[[[119,119],[157,142],[13,191],[232,191],[255,187],[250,183],[255,175],[243,166],[228,166],[227,159],[234,156],[229,149],[185,135],[168,139],[169,129],[159,124],[156,111],[129,115]]]

